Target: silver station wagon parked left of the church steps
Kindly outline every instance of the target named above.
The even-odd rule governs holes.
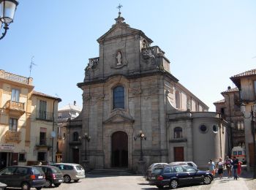
[[[61,170],[65,183],[69,183],[71,180],[78,182],[78,180],[86,178],[83,167],[79,164],[71,163],[56,163],[53,166],[58,167]]]

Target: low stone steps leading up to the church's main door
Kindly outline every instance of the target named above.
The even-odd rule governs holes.
[[[88,172],[88,174],[93,175],[134,175],[135,172],[132,169],[124,168],[124,169],[95,169]]]

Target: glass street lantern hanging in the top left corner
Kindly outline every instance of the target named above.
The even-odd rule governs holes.
[[[4,32],[1,34],[0,40],[7,34],[9,25],[13,22],[17,6],[18,1],[16,0],[0,0],[0,30],[4,26]]]

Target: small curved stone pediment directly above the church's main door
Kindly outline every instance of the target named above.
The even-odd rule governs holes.
[[[124,111],[117,110],[111,113],[110,117],[103,121],[104,124],[112,124],[112,123],[134,123],[132,116],[128,113],[124,113]]]

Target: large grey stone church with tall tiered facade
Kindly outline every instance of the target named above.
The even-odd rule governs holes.
[[[91,169],[140,170],[153,162],[194,161],[225,156],[226,122],[170,71],[165,52],[118,12],[116,23],[89,58],[83,110],[67,122],[64,161]],[[159,34],[160,35],[160,34]],[[86,134],[86,135],[85,135]],[[89,136],[90,139],[86,140]]]

